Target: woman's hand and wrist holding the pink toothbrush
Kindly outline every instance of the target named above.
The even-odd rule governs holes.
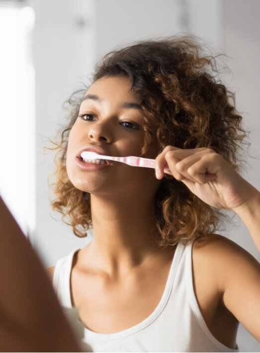
[[[164,170],[168,165],[170,171]],[[222,156],[209,148],[180,149],[167,146],[156,158],[156,175],[181,180],[210,206],[234,210],[258,192]],[[235,211],[236,212],[236,211]]]

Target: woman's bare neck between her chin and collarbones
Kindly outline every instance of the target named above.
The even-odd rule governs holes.
[[[91,195],[94,239],[89,255],[108,272],[127,271],[160,252],[156,234],[154,200],[117,199]],[[91,260],[91,261],[92,261]]]

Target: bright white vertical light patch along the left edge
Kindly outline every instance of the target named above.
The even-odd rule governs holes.
[[[35,89],[31,7],[0,6],[0,194],[25,234],[35,228]]]

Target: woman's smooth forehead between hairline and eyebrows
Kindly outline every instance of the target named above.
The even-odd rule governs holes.
[[[141,98],[131,91],[132,83],[127,77],[104,77],[95,81],[87,90],[87,94],[94,94],[103,100],[122,102],[132,101],[141,103]]]

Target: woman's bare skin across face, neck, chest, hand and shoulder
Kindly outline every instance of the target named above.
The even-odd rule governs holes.
[[[174,250],[155,246],[152,216],[166,164],[169,174],[203,201],[236,212],[260,249],[260,193],[210,149],[168,146],[157,156],[155,145],[151,146],[145,157],[156,158],[156,176],[151,169],[120,163],[100,171],[77,166],[78,152],[89,145],[106,155],[141,155],[142,113],[120,107],[125,102],[140,104],[130,88],[130,81],[122,77],[93,83],[86,94],[98,96],[99,101],[83,101],[80,114],[90,115],[84,116],[87,121],[78,118],[68,144],[68,176],[76,187],[90,192],[95,234],[74,258],[71,293],[85,325],[99,333],[118,332],[143,321],[164,292]],[[260,340],[259,263],[219,235],[196,241],[192,257],[194,291],[211,333],[235,348],[240,321]],[[48,269],[51,277],[53,270]]]

